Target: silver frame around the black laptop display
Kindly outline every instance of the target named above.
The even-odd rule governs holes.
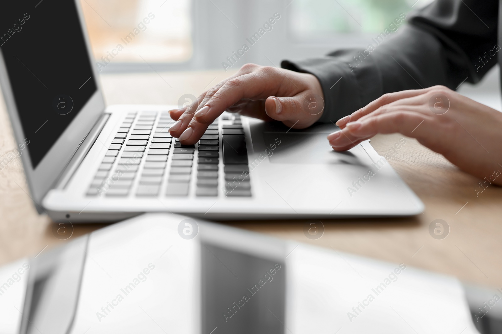
[[[103,115],[105,102],[102,95],[101,85],[98,80],[97,68],[93,63],[94,56],[91,52],[87,27],[85,25],[84,16],[78,0],[73,1],[77,13],[80,26],[84,35],[84,42],[87,53],[89,55],[90,67],[92,69],[93,78],[96,82],[96,91],[86,102],[84,107],[79,111],[78,115],[63,131],[58,140],[52,145],[44,158],[40,161],[36,168],[33,168],[30,154],[30,145],[27,145],[21,152],[21,160],[25,170],[28,186],[30,188],[32,200],[36,203],[37,210],[42,209],[42,199],[47,192],[54,187],[58,178],[68,165],[75,151],[91,131],[94,124]],[[21,120],[16,106],[16,100],[9,81],[7,67],[0,52],[0,85],[4,94],[5,104],[11,120],[11,125],[14,130],[16,139],[16,148],[19,149],[19,144],[22,144],[25,137]],[[19,154],[19,153],[18,153]]]

